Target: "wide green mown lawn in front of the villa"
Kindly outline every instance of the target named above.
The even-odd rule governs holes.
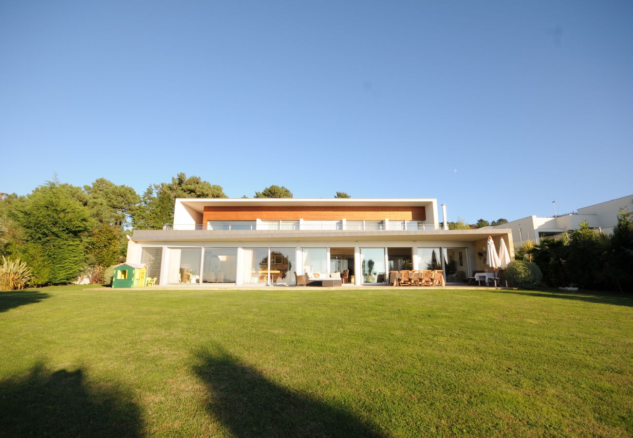
[[[632,435],[633,297],[0,293],[0,435]]]

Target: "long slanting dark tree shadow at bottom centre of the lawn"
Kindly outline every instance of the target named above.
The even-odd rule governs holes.
[[[236,437],[383,436],[348,411],[275,384],[221,347],[197,360],[194,372],[208,387],[211,416]]]

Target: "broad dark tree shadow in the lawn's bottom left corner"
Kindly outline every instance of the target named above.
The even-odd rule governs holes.
[[[130,395],[103,386],[89,384],[82,370],[43,365],[1,380],[0,436],[141,436],[144,423]]]

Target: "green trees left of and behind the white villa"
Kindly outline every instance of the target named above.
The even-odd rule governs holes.
[[[149,185],[142,196],[105,178],[77,187],[55,177],[26,196],[0,193],[0,256],[25,262],[32,286],[67,284],[81,275],[91,283],[109,281],[106,270],[125,260],[127,235],[172,223],[179,197],[227,196],[220,185],[184,173]],[[290,198],[292,192],[270,185],[254,197]]]

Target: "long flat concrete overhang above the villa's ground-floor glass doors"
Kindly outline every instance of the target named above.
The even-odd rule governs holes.
[[[132,241],[459,241],[474,242],[511,234],[510,228],[426,231],[134,230]]]

